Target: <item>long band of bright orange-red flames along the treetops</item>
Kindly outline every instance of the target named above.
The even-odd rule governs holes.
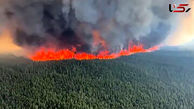
[[[77,53],[76,49],[63,49],[63,50],[54,50],[54,49],[45,49],[42,48],[35,54],[29,56],[33,61],[51,61],[51,60],[93,60],[93,59],[115,59],[120,56],[128,56],[135,53],[146,53],[152,52],[159,49],[159,46],[154,46],[152,48],[144,49],[142,44],[129,46],[128,49],[121,50],[117,53],[110,53],[108,50],[101,51],[98,54],[90,54],[85,52]]]

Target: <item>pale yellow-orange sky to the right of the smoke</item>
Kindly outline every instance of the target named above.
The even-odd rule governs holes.
[[[194,40],[194,1],[190,0],[189,5],[191,11],[182,15],[180,23],[175,28],[174,32],[169,35],[166,44],[169,46],[180,46],[192,43]]]

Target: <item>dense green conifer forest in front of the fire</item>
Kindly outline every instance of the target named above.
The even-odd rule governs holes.
[[[0,58],[0,109],[193,109],[194,54],[114,60]]]

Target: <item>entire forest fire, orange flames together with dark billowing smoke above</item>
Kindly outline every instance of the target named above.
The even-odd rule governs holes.
[[[172,19],[155,20],[164,15],[152,12],[155,4],[147,2],[145,12],[139,13],[134,8],[142,8],[142,3],[131,5],[128,0],[89,0],[84,8],[80,0],[39,1],[5,2],[0,13],[14,45],[33,61],[115,59],[152,52],[168,36]]]

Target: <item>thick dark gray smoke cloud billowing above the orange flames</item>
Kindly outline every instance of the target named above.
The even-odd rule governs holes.
[[[76,47],[97,52],[93,31],[109,50],[129,42],[159,44],[170,31],[167,0],[1,0],[0,27],[13,32],[20,46]]]

